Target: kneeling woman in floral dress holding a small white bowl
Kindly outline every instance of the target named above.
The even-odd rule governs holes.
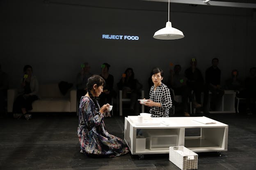
[[[96,97],[103,92],[104,79],[94,75],[88,79],[88,92],[79,105],[78,138],[81,152],[89,156],[117,157],[129,152],[122,139],[105,130],[103,113],[110,107],[99,106]]]

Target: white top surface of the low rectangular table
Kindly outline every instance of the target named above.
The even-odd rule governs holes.
[[[201,117],[152,117],[150,118],[153,124],[160,122],[159,125],[136,125],[137,116],[128,116],[125,118],[129,123],[135,128],[217,128],[217,127],[228,127],[228,125],[215,121],[213,119],[207,118],[205,116]],[[161,123],[165,121],[169,125],[164,125]],[[203,122],[203,123],[202,123]],[[211,123],[213,124],[205,124]]]

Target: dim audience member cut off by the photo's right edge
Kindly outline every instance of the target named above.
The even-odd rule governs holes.
[[[250,69],[250,76],[245,78],[245,90],[237,94],[240,98],[246,98],[246,112],[252,114],[255,112],[256,101],[256,67]]]

